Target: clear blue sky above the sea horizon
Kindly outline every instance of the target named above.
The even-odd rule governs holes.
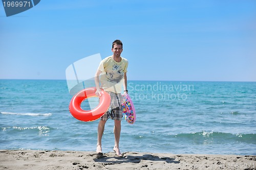
[[[66,79],[123,42],[129,80],[256,81],[256,1],[42,0],[6,17],[0,79]]]

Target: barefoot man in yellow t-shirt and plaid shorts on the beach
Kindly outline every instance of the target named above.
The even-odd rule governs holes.
[[[123,51],[123,44],[120,40],[115,40],[112,43],[113,55],[103,59],[98,67],[95,74],[95,85],[96,85],[96,95],[100,96],[100,91],[102,88],[104,91],[108,92],[111,96],[110,111],[105,112],[100,118],[98,125],[98,142],[97,142],[97,154],[98,157],[102,157],[101,139],[104,132],[104,126],[106,120],[109,118],[114,119],[114,135],[115,135],[115,145],[113,150],[116,152],[118,157],[122,154],[119,150],[119,139],[121,132],[121,119],[122,119],[122,84],[124,93],[127,93],[127,67],[128,61],[121,57]],[[102,74],[101,74],[102,72]],[[99,76],[101,86],[99,86]]]

